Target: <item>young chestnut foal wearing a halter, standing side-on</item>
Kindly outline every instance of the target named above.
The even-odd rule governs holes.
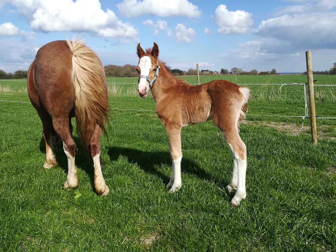
[[[173,77],[165,64],[158,60],[159,47],[154,42],[144,51],[137,46],[139,62],[138,91],[145,97],[151,89],[156,112],[164,124],[169,138],[172,174],[169,192],[181,187],[181,128],[212,120],[223,134],[233,155],[233,172],[227,191],[237,189],[231,200],[238,205],[246,198],[246,146],[239,136],[239,123],[245,119],[250,90],[226,80],[215,80],[202,85],[189,85]]]

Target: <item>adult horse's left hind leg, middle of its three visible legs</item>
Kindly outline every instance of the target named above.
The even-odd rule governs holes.
[[[68,158],[68,176],[64,182],[64,187],[76,188],[79,184],[77,169],[75,166],[76,145],[71,137],[68,117],[56,117],[52,119],[52,124],[57,135],[63,141],[63,149]]]

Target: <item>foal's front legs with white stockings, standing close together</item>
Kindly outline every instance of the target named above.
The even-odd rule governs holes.
[[[166,125],[166,131],[169,138],[169,150],[170,157],[172,160],[172,173],[170,177],[170,181],[167,187],[170,189],[169,192],[173,193],[177,191],[181,185],[181,159],[182,159],[182,151],[181,151],[181,126],[177,126],[176,124]]]

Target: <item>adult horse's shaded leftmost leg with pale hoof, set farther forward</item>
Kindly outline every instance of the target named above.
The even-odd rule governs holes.
[[[44,169],[51,169],[57,165],[55,154],[53,152],[54,143],[53,136],[51,135],[52,120],[49,115],[38,113],[43,125],[43,138],[45,141],[45,162],[43,164]]]

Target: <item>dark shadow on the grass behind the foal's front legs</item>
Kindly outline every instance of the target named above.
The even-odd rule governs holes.
[[[129,163],[136,163],[144,172],[158,176],[165,184],[168,184],[170,180],[170,176],[167,176],[157,169],[160,165],[168,165],[171,167],[172,161],[169,152],[147,152],[131,148],[110,147],[108,149],[108,155],[111,162],[117,161],[120,156],[126,157]],[[216,184],[220,183],[213,175],[185,157],[182,158],[181,172],[215,182]]]

